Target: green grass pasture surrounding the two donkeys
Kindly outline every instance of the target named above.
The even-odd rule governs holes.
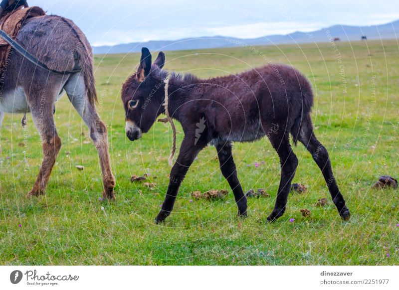
[[[320,170],[298,144],[293,182],[308,190],[290,193],[284,216],[267,223],[280,167],[276,152],[262,139],[233,147],[244,191],[264,188],[271,195],[248,199],[248,218],[236,217],[216,150],[208,146],[161,225],[154,218],[168,185],[172,132],[156,123],[139,141],[126,138],[120,88],[140,55],[96,55],[97,108],[109,130],[117,200],[99,201],[97,151],[66,96],[56,103],[63,145],[46,195],[27,199],[42,158],[39,136],[30,115],[25,129],[22,115],[6,115],[0,131],[0,264],[398,265],[399,190],[371,188],[380,175],[399,177],[398,55],[396,40],[166,52],[165,69],[203,78],[269,61],[302,71],[314,88],[316,136],[329,150],[352,217],[349,222],[339,217]],[[179,148],[183,133],[177,126]],[[154,189],[130,181],[132,174],[144,173],[156,183]],[[218,201],[191,197],[192,191],[210,189],[228,189],[229,194]],[[317,207],[323,197],[327,205]],[[300,209],[311,210],[310,216],[302,217]]]

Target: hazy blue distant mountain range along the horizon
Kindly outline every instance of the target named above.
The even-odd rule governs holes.
[[[184,38],[180,40],[151,40],[147,42],[132,42],[113,46],[94,46],[94,54],[138,52],[141,47],[154,50],[184,50],[217,47],[233,47],[245,45],[270,45],[309,42],[328,42],[339,38],[341,41],[360,40],[365,35],[367,39],[393,39],[399,36],[399,20],[371,26],[334,25],[312,32],[293,32],[286,35],[268,35],[258,38],[233,38],[227,36],[209,36]]]

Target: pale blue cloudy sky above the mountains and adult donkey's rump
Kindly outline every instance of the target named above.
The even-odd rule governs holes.
[[[399,19],[399,0],[28,0],[72,19],[92,45],[312,31]]]

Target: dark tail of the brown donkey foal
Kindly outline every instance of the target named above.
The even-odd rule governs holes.
[[[290,133],[293,138],[294,145],[296,146],[298,143],[298,138],[301,134],[301,129],[304,124],[308,122],[312,122],[310,119],[310,112],[312,111],[313,107],[313,91],[312,86],[310,85],[309,81],[302,76],[300,83],[301,89],[301,109],[299,112],[298,117],[296,117],[294,124],[291,127]]]

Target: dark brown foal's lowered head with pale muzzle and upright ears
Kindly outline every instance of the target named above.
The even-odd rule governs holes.
[[[151,64],[148,48],[141,49],[140,65],[137,73],[130,76],[122,86],[122,102],[125,108],[126,136],[130,141],[147,133],[157,117],[164,111],[164,77],[161,69],[165,64],[165,54],[161,51]]]

